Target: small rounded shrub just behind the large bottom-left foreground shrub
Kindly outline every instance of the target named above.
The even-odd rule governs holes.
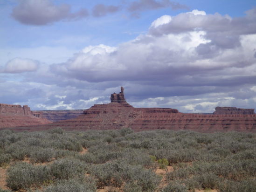
[[[49,162],[54,157],[54,150],[52,148],[37,148],[30,153],[30,159],[33,163]]]

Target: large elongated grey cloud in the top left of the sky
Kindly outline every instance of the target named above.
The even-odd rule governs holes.
[[[71,13],[68,4],[54,5],[50,0],[21,0],[12,16],[27,25],[46,25],[56,21],[70,21],[88,16],[86,9]]]

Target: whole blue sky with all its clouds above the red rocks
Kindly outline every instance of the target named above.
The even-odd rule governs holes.
[[[0,0],[0,103],[256,108],[256,0]]]

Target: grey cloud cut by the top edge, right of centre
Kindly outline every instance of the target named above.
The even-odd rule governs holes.
[[[128,7],[128,11],[130,12],[139,12],[151,9],[159,9],[171,7],[173,10],[176,9],[188,9],[186,5],[182,5],[178,2],[173,2],[170,0],[138,0],[133,1],[130,6]]]

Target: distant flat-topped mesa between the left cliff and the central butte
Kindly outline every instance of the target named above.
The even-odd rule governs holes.
[[[47,119],[52,122],[72,119],[80,116],[84,110],[38,110],[32,111],[35,117]]]

